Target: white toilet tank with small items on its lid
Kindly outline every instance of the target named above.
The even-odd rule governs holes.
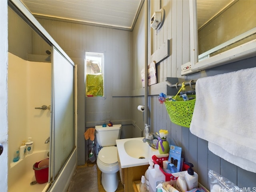
[[[102,127],[102,125],[95,126],[96,139],[99,146],[115,146],[116,139],[120,139],[122,125],[113,125],[109,127]]]

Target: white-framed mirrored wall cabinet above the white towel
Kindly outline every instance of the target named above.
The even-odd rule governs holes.
[[[256,56],[256,1],[189,3],[191,63],[182,75]]]

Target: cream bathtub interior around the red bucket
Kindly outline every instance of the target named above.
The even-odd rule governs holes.
[[[48,182],[44,184],[30,185],[35,181],[33,165],[48,158],[48,151],[34,151],[18,162],[12,162],[8,172],[8,192],[44,192],[48,188]]]

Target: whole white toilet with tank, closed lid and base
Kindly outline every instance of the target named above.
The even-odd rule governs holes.
[[[95,126],[96,139],[103,148],[98,153],[97,166],[102,172],[101,183],[106,192],[114,192],[118,187],[119,166],[116,139],[120,138],[122,125],[109,127]]]

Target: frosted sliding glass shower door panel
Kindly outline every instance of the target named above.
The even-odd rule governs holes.
[[[52,47],[51,176],[56,178],[75,148],[74,65]]]

